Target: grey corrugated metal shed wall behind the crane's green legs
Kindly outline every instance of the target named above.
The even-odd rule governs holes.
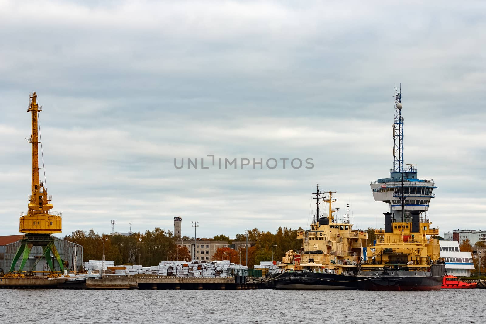
[[[77,270],[82,270],[83,264],[83,247],[79,244],[69,242],[65,239],[58,239],[54,243],[57,248],[57,252],[59,252],[59,256],[61,256],[62,260],[67,260],[69,262],[68,269],[70,271],[74,270],[74,255],[76,255],[77,259]],[[15,254],[17,253],[18,248],[20,247],[20,242],[10,243],[4,246],[0,246],[0,268],[3,269],[3,272],[8,272],[10,270],[10,265],[14,259]],[[27,261],[26,265],[24,266],[24,271],[50,271],[49,265],[47,264],[45,259],[42,259],[37,263],[35,269],[32,267],[35,264],[35,261],[39,256],[42,256],[42,247],[41,246],[34,246],[32,247],[29,260]],[[52,264],[56,271],[59,271],[59,264],[57,264],[56,259],[52,256]],[[15,270],[18,270],[20,266],[21,258],[18,259],[17,264],[15,266]]]

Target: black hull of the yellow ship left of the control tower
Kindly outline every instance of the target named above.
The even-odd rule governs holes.
[[[269,277],[275,278],[269,281],[269,288],[280,290],[358,290],[358,282],[363,280],[356,275],[312,272],[276,273]]]

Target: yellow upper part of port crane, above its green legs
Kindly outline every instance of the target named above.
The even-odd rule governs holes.
[[[32,115],[32,135],[26,138],[32,144],[32,187],[29,195],[28,211],[20,213],[20,233],[52,234],[61,233],[61,213],[52,211],[52,196],[47,194],[44,184],[39,181],[39,134],[38,113],[42,107],[37,103],[36,93],[31,93],[27,112]]]

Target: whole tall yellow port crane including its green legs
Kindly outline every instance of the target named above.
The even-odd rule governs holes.
[[[52,271],[55,271],[52,264],[52,256],[57,260],[60,270],[63,271],[63,262],[54,242],[57,241],[51,234],[61,233],[61,213],[52,211],[53,205],[50,203],[52,196],[47,194],[44,183],[39,181],[39,134],[38,134],[38,113],[42,111],[42,106],[37,103],[37,94],[31,93],[27,112],[32,116],[32,135],[26,138],[32,144],[32,187],[29,195],[29,209],[20,213],[19,232],[25,233],[20,240],[21,245],[12,261],[10,272],[15,270],[18,259],[22,256],[18,271],[22,271],[28,261],[29,254],[33,246],[41,246],[43,255],[38,257],[37,263],[45,258]]]

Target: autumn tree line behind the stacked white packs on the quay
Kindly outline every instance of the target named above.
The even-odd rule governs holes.
[[[300,249],[301,240],[296,239],[297,231],[302,228],[291,229],[279,227],[276,233],[260,231],[257,228],[246,230],[248,241],[256,241],[256,245],[248,248],[248,266],[253,268],[260,261],[281,260],[285,252],[291,249]],[[103,258],[103,245],[105,260],[114,260],[116,265],[139,264],[144,267],[155,266],[162,260],[191,260],[191,253],[185,246],[175,244],[178,240],[193,240],[190,237],[174,236],[172,231],[156,227],[145,233],[133,233],[131,236],[106,235],[89,231],[76,230],[65,237],[66,240],[83,246],[83,261],[101,260]],[[199,239],[198,239],[199,240]],[[227,241],[232,240],[226,235],[217,235],[212,239],[200,238],[200,240]],[[237,234],[235,240],[246,240],[245,234]],[[246,249],[244,246],[239,251],[231,248],[218,249],[211,257],[212,260],[229,260],[231,262],[246,265]]]

